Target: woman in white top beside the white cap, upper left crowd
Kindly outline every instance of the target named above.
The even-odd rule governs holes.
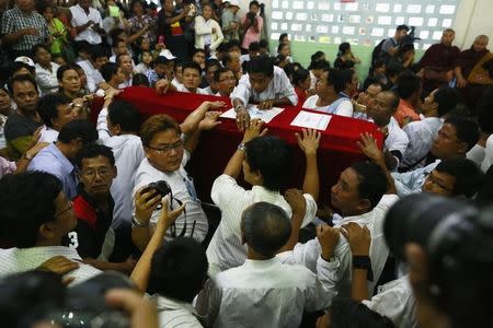
[[[57,92],[57,71],[59,66],[51,61],[49,48],[42,44],[34,46],[33,58],[36,61],[34,66],[36,68],[36,82],[42,91],[42,95]]]

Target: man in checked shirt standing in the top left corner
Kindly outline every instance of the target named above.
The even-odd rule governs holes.
[[[13,9],[3,13],[1,27],[2,42],[10,45],[12,60],[20,56],[31,56],[36,44],[48,40],[48,25],[34,10],[33,0],[16,0]]]

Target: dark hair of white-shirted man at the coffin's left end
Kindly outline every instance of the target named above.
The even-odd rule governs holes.
[[[107,107],[107,118],[113,125],[119,125],[124,132],[138,133],[140,129],[140,113],[126,101],[113,101]]]

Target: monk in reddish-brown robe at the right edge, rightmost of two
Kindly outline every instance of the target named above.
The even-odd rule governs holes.
[[[460,52],[456,61],[457,86],[462,89],[468,105],[473,112],[479,104],[485,85],[492,85],[493,55],[486,49],[489,38],[480,35],[470,49]]]

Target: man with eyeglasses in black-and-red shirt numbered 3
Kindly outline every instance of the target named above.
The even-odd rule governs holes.
[[[105,145],[89,144],[77,156],[79,195],[73,199],[76,230],[69,233],[69,246],[77,249],[84,262],[100,269],[130,273],[136,260],[110,262],[115,246],[111,229],[115,202],[110,188],[116,177],[113,151]]]

